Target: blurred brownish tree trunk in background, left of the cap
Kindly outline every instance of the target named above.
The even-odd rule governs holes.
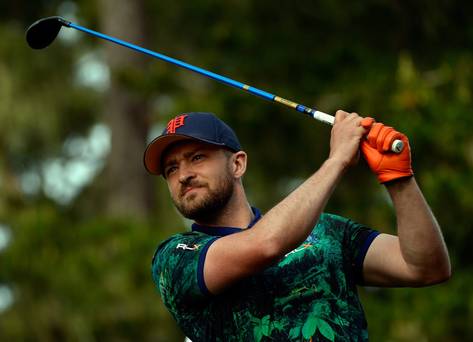
[[[103,32],[146,45],[143,0],[100,0],[99,4]],[[153,197],[152,179],[143,167],[149,105],[133,85],[143,79],[148,58],[116,44],[104,44],[111,72],[105,117],[112,131],[105,210],[111,216],[144,218]]]

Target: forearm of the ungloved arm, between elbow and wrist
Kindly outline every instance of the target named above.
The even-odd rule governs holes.
[[[254,233],[264,236],[271,254],[283,255],[307,238],[345,168],[335,159],[326,160],[316,173],[255,225]]]

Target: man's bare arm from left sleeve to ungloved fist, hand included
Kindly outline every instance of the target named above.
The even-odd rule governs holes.
[[[320,169],[251,229],[222,237],[210,246],[204,279],[211,293],[268,267],[307,238],[344,171],[358,159],[366,132],[360,122],[358,115],[338,111],[330,156]]]

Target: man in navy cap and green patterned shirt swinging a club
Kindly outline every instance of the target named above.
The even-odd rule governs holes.
[[[394,139],[404,150],[390,152]],[[362,151],[391,196],[398,236],[323,213]],[[247,155],[212,114],[182,114],[150,143],[192,232],[161,243],[152,262],[161,297],[197,341],[365,341],[356,285],[425,286],[450,277],[440,228],[416,185],[407,138],[338,111],[321,167],[261,216],[242,185]]]

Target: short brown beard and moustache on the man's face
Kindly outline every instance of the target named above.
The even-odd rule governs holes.
[[[226,170],[227,171],[227,170]],[[210,188],[207,183],[189,181],[185,186],[207,188],[207,192],[200,197],[190,194],[187,197],[179,195],[172,198],[174,205],[182,216],[197,222],[212,222],[220,215],[233,196],[235,185],[230,172],[225,172],[217,181],[215,188]]]

